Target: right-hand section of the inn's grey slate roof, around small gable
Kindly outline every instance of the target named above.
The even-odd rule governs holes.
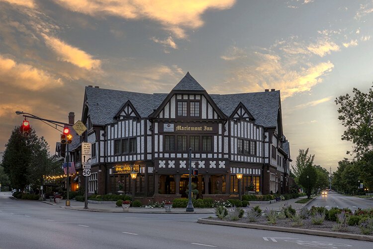
[[[243,94],[210,94],[219,109],[230,116],[242,102],[253,115],[255,123],[264,127],[277,126],[277,115],[280,105],[280,91],[243,93]]]

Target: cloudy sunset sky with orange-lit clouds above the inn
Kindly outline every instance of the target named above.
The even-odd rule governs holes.
[[[295,163],[351,150],[334,100],[373,81],[373,0],[0,0],[0,152],[23,117],[81,120],[85,86],[209,94],[280,90]],[[30,124],[54,153],[60,132]],[[350,157],[351,158],[351,157]]]

